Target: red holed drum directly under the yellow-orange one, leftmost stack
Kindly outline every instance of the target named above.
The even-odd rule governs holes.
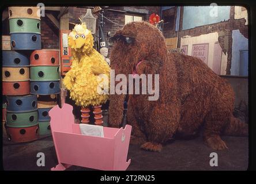
[[[30,93],[30,82],[3,82],[3,95],[27,95]]]

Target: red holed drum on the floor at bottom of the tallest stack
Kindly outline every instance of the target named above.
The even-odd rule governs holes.
[[[36,140],[38,135],[38,125],[27,128],[12,128],[6,126],[7,137],[15,143],[24,143]]]

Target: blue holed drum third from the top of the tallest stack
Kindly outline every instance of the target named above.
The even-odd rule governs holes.
[[[41,35],[36,33],[10,34],[12,50],[39,50],[41,49]]]

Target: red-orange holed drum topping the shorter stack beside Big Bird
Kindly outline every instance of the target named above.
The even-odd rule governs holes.
[[[31,66],[59,66],[59,51],[54,49],[35,50],[30,55]]]

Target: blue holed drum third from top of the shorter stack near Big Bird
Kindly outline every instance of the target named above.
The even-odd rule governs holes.
[[[61,93],[59,81],[31,81],[31,94],[49,95]]]

